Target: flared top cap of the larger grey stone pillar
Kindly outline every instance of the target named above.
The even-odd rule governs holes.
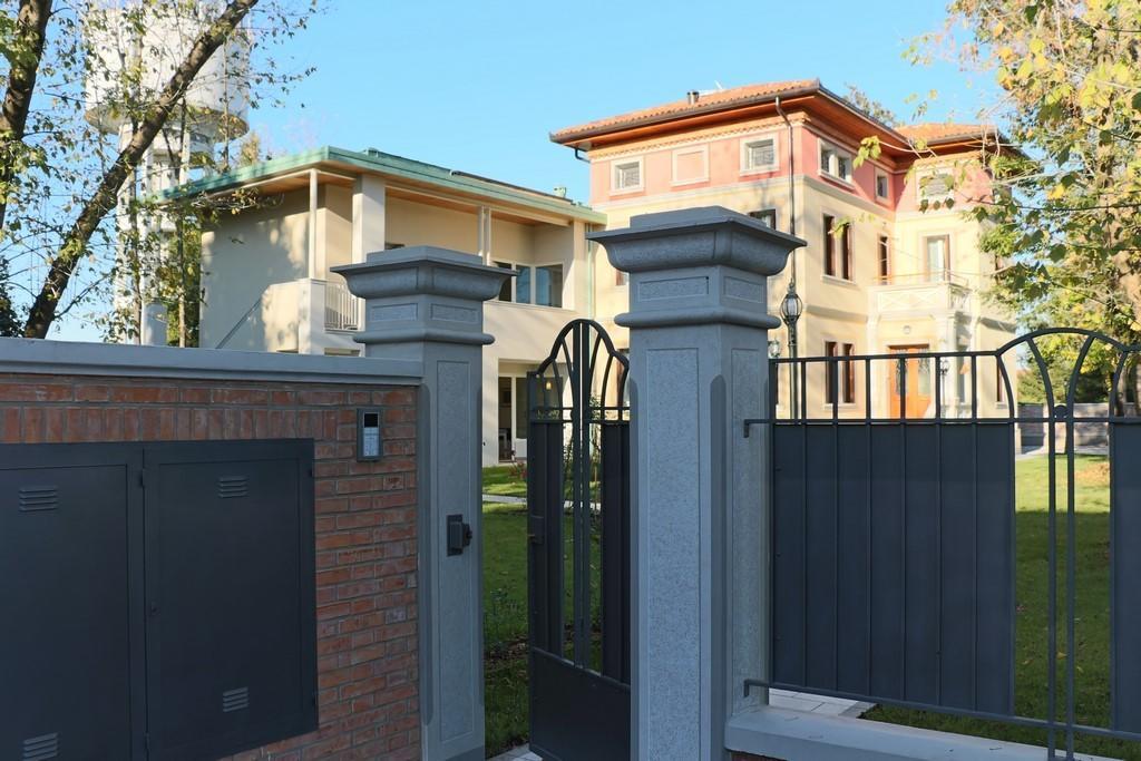
[[[662,211],[631,218],[624,229],[592,233],[615,268],[628,273],[727,266],[776,275],[806,241],[725,207]]]

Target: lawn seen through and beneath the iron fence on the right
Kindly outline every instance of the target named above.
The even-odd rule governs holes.
[[[1049,461],[1017,463],[1015,642],[1014,710],[1023,717],[1045,719],[1047,674],[1058,674],[1058,717],[1065,718],[1065,557],[1066,461],[1058,460],[1058,653],[1051,657],[1049,623]],[[1109,481],[1104,458],[1078,458],[1075,469],[1076,505],[1076,674],[1075,714],[1079,723],[1109,723]],[[866,717],[875,721],[924,727],[995,739],[1045,745],[1046,734],[945,714],[880,706]],[[1065,747],[1065,736],[1059,734]],[[1078,752],[1141,761],[1141,747],[1100,737],[1078,736]]]

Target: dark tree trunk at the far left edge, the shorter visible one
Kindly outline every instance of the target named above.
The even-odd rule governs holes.
[[[8,212],[8,196],[16,178],[24,141],[27,112],[35,91],[35,76],[43,57],[43,40],[51,17],[52,0],[21,0],[16,15],[16,39],[9,54],[8,88],[0,106],[0,229]]]

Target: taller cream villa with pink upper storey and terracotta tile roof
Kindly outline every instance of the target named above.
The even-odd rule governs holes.
[[[877,138],[881,152],[857,167],[865,138]],[[779,314],[795,268],[804,305],[800,356],[994,349],[1013,337],[1013,321],[984,298],[996,262],[979,249],[979,222],[963,213],[989,193],[978,159],[997,145],[992,128],[891,127],[803,80],[689,92],[551,139],[590,161],[590,204],[607,227],[626,227],[641,213],[721,205],[808,241],[768,294]],[[605,257],[594,266],[598,318],[624,345],[613,316],[626,309],[628,285]],[[786,331],[774,333],[787,356]],[[945,415],[969,414],[976,387],[980,414],[1004,414],[993,361],[979,363],[977,379],[966,361],[906,364],[903,394],[889,377],[895,363],[873,365],[871,389],[863,363],[849,363],[836,388],[817,365],[807,413],[826,414],[835,399],[863,414],[871,398],[877,416],[898,415],[900,404],[909,416],[931,414],[939,382]]]

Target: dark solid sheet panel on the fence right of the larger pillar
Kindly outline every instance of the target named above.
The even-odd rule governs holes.
[[[774,426],[776,682],[1013,710],[1013,424]]]

